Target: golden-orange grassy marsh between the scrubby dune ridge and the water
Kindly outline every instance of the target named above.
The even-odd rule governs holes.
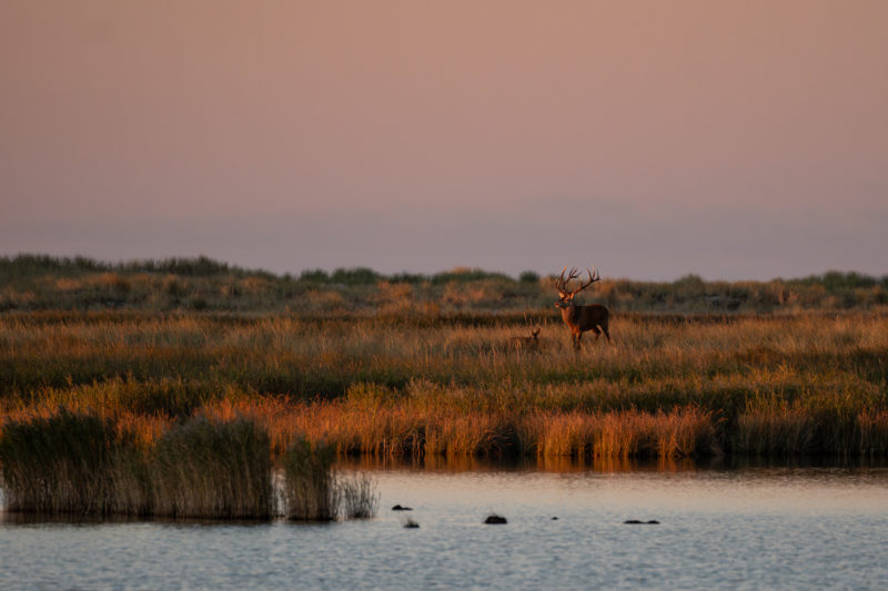
[[[888,315],[614,310],[569,347],[547,310],[7,312],[0,415],[95,412],[152,446],[245,417],[282,455],[888,455]],[[542,350],[507,339],[541,326]]]

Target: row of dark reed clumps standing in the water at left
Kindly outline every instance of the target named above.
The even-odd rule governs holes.
[[[329,521],[373,517],[379,493],[366,476],[337,478],[332,448],[301,438],[283,455],[276,503],[268,431],[238,418],[198,417],[152,446],[112,419],[61,410],[7,421],[0,486],[9,511],[74,516],[157,516]]]

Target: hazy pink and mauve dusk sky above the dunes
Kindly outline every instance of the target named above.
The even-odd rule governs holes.
[[[888,1],[0,0],[0,255],[888,274]]]

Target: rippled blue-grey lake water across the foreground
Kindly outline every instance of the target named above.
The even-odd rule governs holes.
[[[886,467],[452,468],[371,467],[366,521],[6,516],[0,588],[888,589]]]

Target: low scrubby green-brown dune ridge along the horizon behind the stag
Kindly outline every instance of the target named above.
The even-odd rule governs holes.
[[[471,267],[435,274],[385,275],[352,267],[278,275],[205,256],[112,263],[19,254],[0,257],[0,312],[552,314],[555,278],[555,274],[541,276],[532,271],[513,277]],[[888,305],[888,275],[827,271],[768,282],[707,282],[694,274],[674,282],[604,276],[583,296],[616,313],[871,310]]]

